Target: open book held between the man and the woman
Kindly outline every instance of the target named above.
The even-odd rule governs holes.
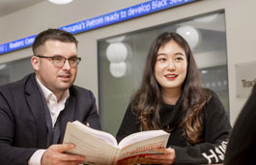
[[[110,133],[75,121],[67,124],[63,143],[74,144],[68,152],[85,155],[84,164],[138,164],[145,163],[145,155],[158,154],[154,149],[165,148],[169,135],[163,130],[141,131],[117,144]]]

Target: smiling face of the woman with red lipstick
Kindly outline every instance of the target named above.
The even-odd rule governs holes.
[[[172,40],[159,47],[156,56],[155,76],[161,89],[181,91],[187,69],[185,50]]]

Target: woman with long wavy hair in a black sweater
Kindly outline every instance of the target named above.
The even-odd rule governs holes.
[[[223,105],[203,89],[192,52],[177,33],[158,36],[149,51],[143,81],[132,97],[118,141],[131,133],[163,129],[170,132],[164,154],[148,155],[152,164],[219,163],[231,125]]]

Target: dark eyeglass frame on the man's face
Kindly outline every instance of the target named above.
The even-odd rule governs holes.
[[[67,59],[67,58],[65,58],[65,57],[63,57],[63,56],[61,56],[61,55],[54,55],[54,56],[34,55],[34,56],[39,57],[39,58],[44,58],[44,59],[47,59],[47,58],[51,59],[52,64],[54,65],[54,67],[57,67],[57,68],[63,68],[63,66],[65,65],[65,63],[66,63],[67,60],[69,61],[69,65],[71,66],[71,68],[75,68],[75,67],[78,66],[79,62],[82,60],[81,57],[77,57],[77,56],[73,56],[73,57],[71,57],[71,58],[69,58],[69,59]],[[57,65],[56,65],[56,60],[55,60],[55,63],[54,63],[54,58],[61,58],[62,61],[63,61],[63,59],[64,59],[62,66],[57,66]],[[70,61],[70,60],[71,60],[72,58],[76,58],[76,62],[73,63],[73,65],[75,64],[75,66],[71,65],[71,61]]]

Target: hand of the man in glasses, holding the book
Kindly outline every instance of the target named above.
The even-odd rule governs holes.
[[[41,159],[42,165],[77,165],[82,164],[85,157],[78,154],[69,154],[65,151],[74,149],[73,144],[52,145],[44,153]]]

